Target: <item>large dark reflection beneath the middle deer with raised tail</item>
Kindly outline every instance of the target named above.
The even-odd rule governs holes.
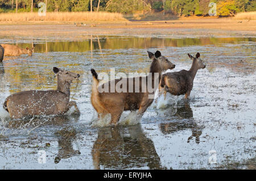
[[[154,142],[145,136],[140,124],[98,129],[92,156],[94,169],[100,169],[100,165],[111,169],[162,169]]]

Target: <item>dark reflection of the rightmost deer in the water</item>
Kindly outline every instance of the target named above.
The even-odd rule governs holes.
[[[191,129],[192,135],[188,137],[187,142],[195,137],[196,143],[199,144],[203,127],[197,125],[195,120],[193,120],[193,111],[189,104],[185,103],[184,106],[176,108],[176,113],[174,116],[177,117],[177,120],[174,122],[160,124],[160,130],[162,133],[172,134],[185,129]]]

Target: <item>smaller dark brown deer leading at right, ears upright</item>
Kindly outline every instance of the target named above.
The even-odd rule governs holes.
[[[197,70],[204,69],[205,64],[198,52],[196,57],[193,57],[191,54],[188,54],[188,57],[193,60],[189,70],[180,70],[162,75],[159,83],[159,92],[164,92],[164,98],[166,98],[166,92],[170,92],[173,95],[185,94],[185,99],[189,97]]]

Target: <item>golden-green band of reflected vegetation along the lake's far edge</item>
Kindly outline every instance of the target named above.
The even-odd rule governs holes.
[[[35,52],[86,52],[97,49],[130,49],[130,48],[151,48],[151,47],[187,47],[192,45],[221,45],[236,44],[242,41],[256,41],[253,37],[204,37],[204,38],[183,38],[170,39],[158,37],[121,37],[121,36],[91,36],[84,41],[50,41],[46,43],[32,43]],[[20,47],[31,47],[30,43],[18,44]]]

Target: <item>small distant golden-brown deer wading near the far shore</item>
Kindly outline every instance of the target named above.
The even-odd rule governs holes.
[[[5,56],[20,56],[20,54],[28,54],[28,56],[32,56],[32,51],[35,49],[32,48],[19,48],[17,45],[9,45],[9,44],[1,44],[1,46],[5,49]]]

